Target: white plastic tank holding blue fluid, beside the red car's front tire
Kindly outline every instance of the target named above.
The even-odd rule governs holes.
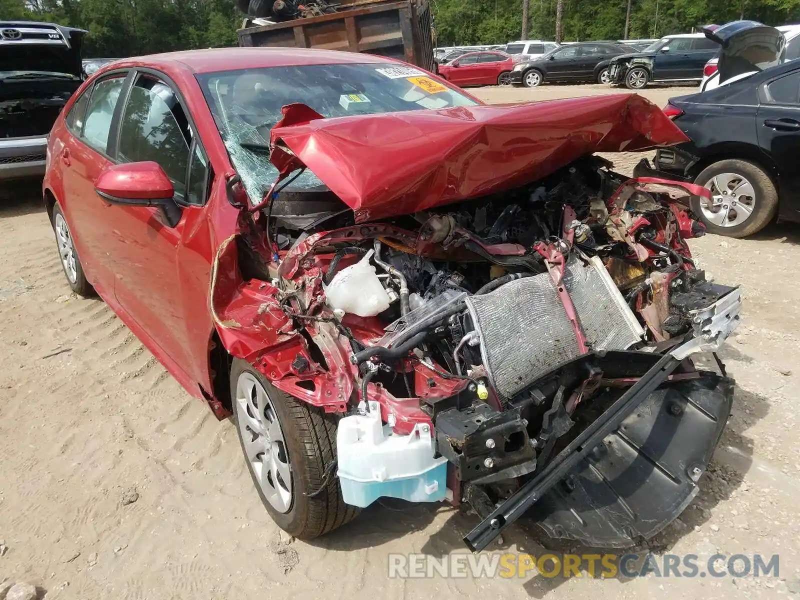
[[[378,402],[368,413],[338,423],[336,454],[342,498],[353,506],[370,506],[387,496],[410,502],[446,498],[447,459],[434,458],[430,425],[419,423],[410,435],[383,425]]]

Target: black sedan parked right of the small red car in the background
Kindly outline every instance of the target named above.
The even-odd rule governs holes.
[[[608,83],[611,59],[630,54],[630,46],[614,42],[581,42],[561,46],[531,61],[519,62],[511,82],[536,87],[544,82]]]

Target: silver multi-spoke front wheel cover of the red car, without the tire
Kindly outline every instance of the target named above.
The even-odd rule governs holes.
[[[278,412],[264,386],[248,371],[236,383],[236,422],[246,459],[270,505],[280,513],[292,507],[292,467]]]

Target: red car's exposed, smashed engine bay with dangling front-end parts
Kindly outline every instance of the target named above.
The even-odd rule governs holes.
[[[531,507],[554,537],[626,546],[694,497],[733,388],[722,363],[715,374],[687,357],[724,341],[739,292],[707,281],[687,246],[704,233],[689,208],[702,188],[610,167],[589,156],[378,222],[355,224],[335,198],[298,222],[291,194],[242,210],[235,258],[223,248],[218,270],[235,260],[250,281],[235,298],[212,292],[218,323],[258,303],[251,334],[280,352],[241,354],[279,389],[346,415],[346,502],[470,502],[483,521],[465,540],[480,550]],[[430,451],[415,448],[413,468],[398,467],[400,446],[380,458],[382,441],[419,438]]]

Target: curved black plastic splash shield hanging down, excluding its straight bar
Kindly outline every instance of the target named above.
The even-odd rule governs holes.
[[[526,514],[553,538],[602,548],[651,538],[686,509],[725,428],[734,382],[655,390]]]

